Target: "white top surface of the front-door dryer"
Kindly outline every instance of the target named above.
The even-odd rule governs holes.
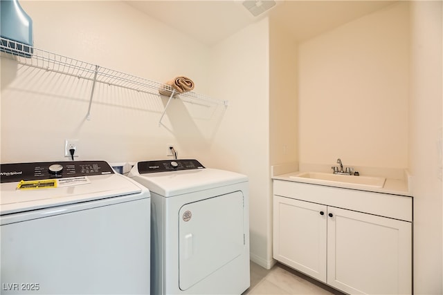
[[[246,175],[219,169],[190,169],[159,173],[139,173],[138,164],[129,177],[143,184],[151,192],[171,197],[229,184],[247,182]]]

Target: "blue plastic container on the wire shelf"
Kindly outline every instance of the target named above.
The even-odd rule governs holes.
[[[18,0],[0,1],[1,51],[30,57],[33,53],[33,20],[21,8]]]

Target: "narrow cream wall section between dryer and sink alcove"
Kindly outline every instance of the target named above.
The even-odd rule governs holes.
[[[269,175],[269,23],[262,19],[214,46],[211,95],[229,106],[207,162],[248,175],[251,260],[271,264]]]

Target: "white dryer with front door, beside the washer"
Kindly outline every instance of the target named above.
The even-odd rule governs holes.
[[[137,162],[151,192],[151,294],[242,294],[250,285],[248,178],[197,160]]]

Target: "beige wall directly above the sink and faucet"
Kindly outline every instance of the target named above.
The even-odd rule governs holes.
[[[299,46],[300,165],[408,165],[408,4]]]

